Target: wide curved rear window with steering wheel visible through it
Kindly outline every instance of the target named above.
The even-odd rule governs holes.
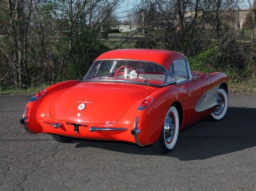
[[[157,63],[135,60],[95,61],[83,81],[127,81],[163,85],[166,70]]]

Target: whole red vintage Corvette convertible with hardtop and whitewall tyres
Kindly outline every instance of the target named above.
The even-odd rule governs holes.
[[[21,123],[31,133],[152,145],[167,153],[180,130],[228,107],[224,73],[191,72],[173,51],[119,49],[100,55],[83,81],[54,84],[31,98]]]

